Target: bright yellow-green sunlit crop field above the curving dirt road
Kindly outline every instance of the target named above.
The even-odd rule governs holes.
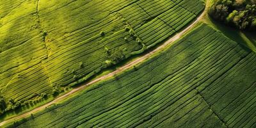
[[[0,1],[0,95],[19,107],[63,92],[164,42],[203,10],[200,0]]]

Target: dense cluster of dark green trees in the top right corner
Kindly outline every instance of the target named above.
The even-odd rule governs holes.
[[[216,0],[209,15],[241,30],[256,30],[255,0]]]

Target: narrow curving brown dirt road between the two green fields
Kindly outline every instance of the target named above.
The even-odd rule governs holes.
[[[13,118],[10,118],[8,120],[4,120],[3,122],[0,123],[0,127],[13,122],[14,120],[19,120],[20,118],[24,118],[26,116],[29,116],[33,113],[36,113],[37,111],[40,111],[41,109],[47,108],[49,106],[51,106],[52,104],[56,104],[57,102],[61,102],[61,100],[67,99],[70,95],[74,95],[74,93],[77,93],[81,90],[84,90],[84,88],[86,88],[87,86],[90,86],[93,83],[97,83],[99,81],[102,81],[104,79],[108,79],[110,77],[115,76],[115,74],[118,74],[120,72],[123,72],[124,70],[127,70],[128,68],[132,68],[134,65],[138,65],[139,63],[147,60],[148,58],[150,58],[150,56],[152,56],[152,54],[161,51],[162,49],[164,49],[164,47],[172,44],[173,42],[175,42],[176,40],[179,40],[180,36],[184,35],[186,32],[188,32],[191,28],[193,28],[206,14],[207,12],[207,5],[209,5],[209,1],[207,0],[207,3],[205,4],[205,9],[204,12],[201,13],[201,15],[199,17],[197,17],[197,19],[191,23],[186,29],[180,31],[179,33],[177,33],[175,36],[172,36],[172,38],[170,38],[169,40],[167,40],[166,42],[164,42],[164,44],[162,44],[161,46],[157,47],[156,49],[154,49],[154,51],[148,52],[147,54],[145,54],[144,56],[141,56],[140,58],[131,61],[130,63],[128,63],[127,65],[124,65],[123,67],[120,67],[118,69],[116,69],[114,72],[111,72],[109,74],[106,74],[105,76],[99,77],[93,81],[91,81],[90,83],[86,83],[82,86],[79,86],[78,88],[74,88],[72,91],[62,95],[61,97],[58,97],[54,100],[52,100],[51,102],[48,102],[47,104],[44,104],[43,106],[39,106],[38,108],[35,108],[31,111],[28,111],[27,113],[24,113],[22,115],[19,116],[15,116]]]

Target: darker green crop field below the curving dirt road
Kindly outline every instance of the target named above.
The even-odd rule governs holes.
[[[256,127],[256,54],[206,24],[9,127]]]

